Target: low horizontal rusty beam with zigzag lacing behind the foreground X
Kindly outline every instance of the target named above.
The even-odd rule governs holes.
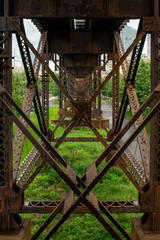
[[[141,213],[138,201],[101,201],[111,213]],[[58,201],[25,201],[22,213],[51,213],[60,204]],[[82,203],[74,213],[90,213]]]

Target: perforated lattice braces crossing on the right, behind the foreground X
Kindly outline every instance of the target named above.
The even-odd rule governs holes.
[[[141,22],[140,22],[139,28],[140,27],[141,27]],[[116,39],[119,55],[122,56],[124,54],[123,45],[122,45],[121,38],[117,32],[115,33],[115,39]],[[142,54],[144,42],[145,42],[145,36],[137,43],[137,45],[133,50],[130,68],[128,68],[127,62],[125,65],[122,65],[126,89],[124,90],[124,97],[121,103],[123,107],[121,107],[121,110],[123,109],[126,111],[128,100],[129,100],[132,115],[134,115],[137,109],[140,107],[134,82],[135,82],[135,76],[138,69],[140,57]],[[125,95],[128,95],[128,96],[125,96]],[[121,115],[124,117],[124,113],[122,113],[122,111],[120,112],[119,119],[117,120],[118,126],[122,125]],[[135,127],[137,128],[142,121],[143,121],[143,117],[140,116],[137,122],[135,122]],[[141,151],[143,166],[145,169],[145,175],[146,175],[146,178],[149,179],[150,146],[149,146],[149,139],[147,136],[147,132],[145,129],[143,129],[142,132],[138,135],[138,143]]]

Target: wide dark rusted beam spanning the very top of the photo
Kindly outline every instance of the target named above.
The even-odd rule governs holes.
[[[150,0],[12,0],[11,16],[19,17],[120,17],[153,16]]]

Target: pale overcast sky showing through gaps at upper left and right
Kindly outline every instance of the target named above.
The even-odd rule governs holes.
[[[127,25],[137,29],[139,24],[139,20],[131,20]],[[38,42],[40,39],[40,32],[37,30],[37,28],[34,26],[34,24],[30,20],[24,20],[24,25],[26,29],[26,34],[30,42],[34,45],[35,48],[38,46]],[[147,55],[147,45],[145,44],[144,47],[144,54]],[[22,61],[18,49],[18,45],[16,42],[16,37],[13,36],[13,56],[15,59],[13,60],[13,66],[14,67],[22,67]]]

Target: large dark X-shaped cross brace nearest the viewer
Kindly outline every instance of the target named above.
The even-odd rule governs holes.
[[[46,161],[57,171],[57,173],[63,178],[63,180],[69,185],[69,187],[72,189],[72,191],[78,196],[77,200],[71,205],[71,207],[65,212],[65,214],[62,216],[60,221],[53,227],[53,229],[49,232],[49,234],[45,237],[45,239],[49,239],[52,234],[61,226],[61,224],[66,220],[66,218],[74,211],[74,209],[78,206],[80,202],[84,203],[87,208],[97,217],[97,219],[102,223],[102,225],[111,233],[111,235],[116,239],[122,239],[119,234],[110,226],[110,224],[106,221],[106,219],[100,214],[100,212],[97,210],[97,208],[90,202],[86,196],[91,192],[93,187],[97,184],[97,182],[106,174],[106,172],[110,169],[111,166],[116,162],[116,160],[119,158],[120,154],[123,153],[123,151],[128,147],[128,145],[132,142],[132,140],[137,136],[137,134],[144,128],[144,126],[151,120],[151,118],[154,116],[154,114],[159,110],[160,108],[160,101],[156,103],[154,108],[152,108],[151,112],[147,116],[147,118],[143,121],[143,123],[135,130],[135,132],[131,135],[131,137],[124,143],[124,145],[118,150],[117,153],[109,160],[109,162],[105,165],[105,167],[98,173],[95,178],[91,177],[90,183],[88,186],[85,186],[85,179],[87,176],[87,173],[90,171],[90,169],[97,167],[103,159],[107,156],[107,154],[113,149],[114,145],[120,140],[120,138],[125,134],[125,132],[130,128],[130,126],[137,120],[137,118],[140,116],[140,114],[146,109],[146,107],[155,99],[155,97],[159,94],[159,86],[155,89],[155,91],[152,93],[152,95],[147,99],[147,101],[141,106],[141,108],[137,111],[137,113],[132,117],[132,119],[129,121],[129,123],[124,127],[124,129],[114,138],[114,140],[111,142],[111,144],[104,150],[104,152],[101,154],[101,156],[93,163],[93,165],[90,167],[90,169],[87,170],[86,174],[80,179],[72,170],[72,168],[67,164],[67,162],[61,157],[61,155],[55,150],[54,147],[49,143],[49,141],[43,136],[43,134],[34,126],[34,124],[28,119],[28,117],[22,112],[22,110],[18,107],[18,105],[14,102],[14,100],[10,97],[10,95],[5,91],[5,89],[1,86],[0,89],[1,94],[5,95],[7,98],[7,101],[14,106],[14,108],[20,113],[20,115],[24,118],[25,121],[28,122],[28,124],[32,127],[32,129],[35,131],[35,133],[38,134],[38,136],[42,139],[42,141],[45,143],[48,151],[34,138],[34,136],[24,127],[23,123],[16,117],[16,115],[13,113],[11,108],[8,106],[5,100],[0,98],[0,101],[3,103],[3,106],[7,110],[7,113],[10,115],[12,120],[17,124],[17,126],[25,133],[25,135],[28,137],[28,139],[33,143],[33,145],[40,151],[42,156],[46,159]],[[69,176],[66,172],[64,172],[59,164],[54,160],[54,158],[50,155],[50,151],[60,160],[63,165],[66,165],[66,168],[70,170],[70,172],[74,173],[72,175],[76,176],[76,180],[78,181],[78,184],[76,184],[72,178],[71,175]],[[95,165],[95,167],[93,167]],[[84,191],[81,192],[79,189],[79,186],[82,186],[84,188]],[[52,221],[55,214],[57,214],[63,207],[64,200],[58,205],[58,207],[55,209],[55,211],[50,215],[49,217],[49,223]],[[121,231],[121,233],[127,238],[130,239],[128,234],[124,231],[124,229],[118,224],[118,222],[113,218],[113,216],[110,214],[108,210],[104,208],[104,206],[98,201],[98,205],[101,208],[101,210],[107,215],[107,217],[114,223],[114,225]],[[46,220],[47,221],[47,220]],[[45,222],[37,232],[38,236],[40,232],[44,230],[46,227]],[[47,224],[48,225],[48,224]],[[31,239],[37,239],[36,234]]]

